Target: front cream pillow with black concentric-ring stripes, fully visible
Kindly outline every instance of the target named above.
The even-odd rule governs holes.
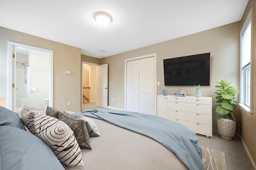
[[[52,149],[60,162],[70,166],[84,166],[80,147],[70,127],[48,115],[34,116],[37,136]]]

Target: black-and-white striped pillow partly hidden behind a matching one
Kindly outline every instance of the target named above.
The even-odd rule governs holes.
[[[24,106],[20,112],[20,118],[23,121],[26,128],[33,134],[36,134],[34,126],[34,115],[44,114],[40,109],[32,106]]]

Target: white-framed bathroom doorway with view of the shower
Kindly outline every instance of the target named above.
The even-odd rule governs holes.
[[[45,110],[52,106],[53,52],[9,42],[11,50],[10,105],[19,113],[25,105]]]

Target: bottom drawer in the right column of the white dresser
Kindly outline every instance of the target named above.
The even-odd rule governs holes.
[[[204,135],[211,135],[211,126],[210,125],[187,121],[187,127],[188,127],[188,129],[190,129],[191,131],[194,131],[196,133],[200,133],[200,134],[204,134]]]

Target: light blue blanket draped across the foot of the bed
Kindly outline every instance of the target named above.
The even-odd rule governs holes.
[[[150,137],[174,152],[188,169],[204,170],[202,149],[197,143],[196,133],[180,123],[154,115],[114,109],[92,109],[80,114]]]

